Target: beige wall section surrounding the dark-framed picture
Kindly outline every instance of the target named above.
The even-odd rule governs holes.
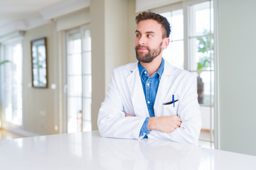
[[[38,135],[57,134],[58,127],[58,42],[55,23],[26,31],[23,39],[23,130]],[[31,40],[47,38],[48,88],[32,88]]]

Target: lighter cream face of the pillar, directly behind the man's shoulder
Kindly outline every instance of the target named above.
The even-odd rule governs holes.
[[[105,85],[114,68],[127,64],[127,0],[105,1]]]

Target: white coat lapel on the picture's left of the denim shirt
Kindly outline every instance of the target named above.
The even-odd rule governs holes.
[[[146,106],[144,91],[142,88],[142,80],[139,77],[139,68],[137,64],[134,68],[129,68],[132,73],[127,77],[127,84],[132,98],[135,115],[149,116],[149,111]]]

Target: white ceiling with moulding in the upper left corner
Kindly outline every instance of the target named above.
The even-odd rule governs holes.
[[[0,38],[90,6],[90,0],[0,0]]]

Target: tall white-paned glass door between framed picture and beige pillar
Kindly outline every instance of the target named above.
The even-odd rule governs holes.
[[[66,32],[66,123],[67,132],[92,129],[92,72],[90,29]]]

